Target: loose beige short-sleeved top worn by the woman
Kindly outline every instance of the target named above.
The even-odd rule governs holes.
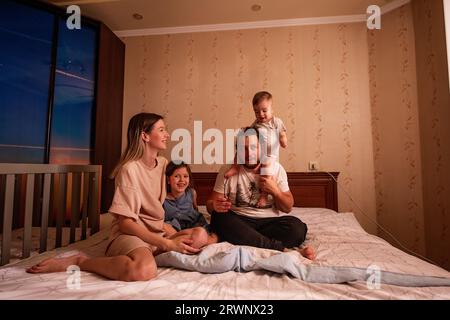
[[[111,224],[109,243],[122,233],[119,215],[132,218],[149,231],[164,235],[163,202],[166,197],[167,159],[158,157],[156,167],[150,168],[142,160],[127,162],[116,176],[116,190],[109,212]]]

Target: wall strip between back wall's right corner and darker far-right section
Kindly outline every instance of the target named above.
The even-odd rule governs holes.
[[[410,5],[368,32],[378,222],[425,254],[414,25]],[[379,234],[393,243],[387,233]],[[398,245],[398,244],[397,244]]]

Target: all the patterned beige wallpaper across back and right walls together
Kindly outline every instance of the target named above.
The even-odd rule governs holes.
[[[211,128],[225,134],[252,123],[251,98],[268,90],[288,129],[280,156],[286,170],[306,171],[314,160],[339,171],[357,203],[341,189],[340,211],[355,212],[367,231],[399,246],[361,207],[408,249],[450,269],[450,97],[441,13],[438,0],[413,0],[383,15],[376,31],[352,23],[124,38],[123,130],[146,111],[192,138],[194,121],[202,121],[197,139]]]

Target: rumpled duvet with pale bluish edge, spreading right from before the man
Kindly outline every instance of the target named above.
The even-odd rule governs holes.
[[[296,209],[291,213],[307,223],[306,244],[317,251],[315,261],[297,251],[279,252],[218,243],[198,255],[167,252],[159,266],[222,273],[266,270],[307,282],[345,283],[376,281],[398,286],[450,286],[450,273],[404,253],[386,241],[366,233],[351,213],[321,209]]]

